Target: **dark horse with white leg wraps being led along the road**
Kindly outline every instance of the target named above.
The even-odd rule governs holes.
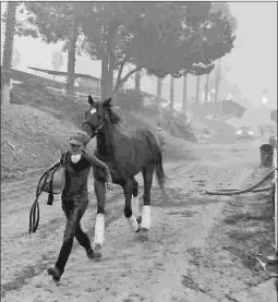
[[[147,129],[124,128],[121,118],[112,110],[111,98],[95,101],[88,96],[88,104],[90,108],[85,112],[82,126],[90,138],[97,138],[95,156],[108,165],[113,183],[122,186],[125,197],[124,216],[132,230],[147,231],[150,227],[150,188],[154,171],[160,189],[166,193],[162,156],[157,141]],[[144,179],[142,217],[138,215],[138,184],[134,178],[141,171]],[[106,186],[102,170],[94,167],[94,178],[97,216],[93,246],[99,250],[105,231]]]

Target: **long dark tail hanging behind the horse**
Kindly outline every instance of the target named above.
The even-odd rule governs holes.
[[[162,165],[162,153],[152,132],[147,136],[147,141],[148,141],[149,147],[153,149],[155,155],[155,162],[156,162],[155,172],[156,172],[158,185],[162,191],[164,195],[166,196],[166,198],[173,201],[171,195],[169,194],[169,192],[167,192],[165,188],[167,177],[165,174],[164,165]]]

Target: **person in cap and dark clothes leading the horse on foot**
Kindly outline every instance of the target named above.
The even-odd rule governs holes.
[[[112,189],[112,178],[108,166],[94,155],[86,153],[89,137],[86,132],[77,131],[70,137],[69,150],[63,153],[60,162],[65,170],[65,184],[62,192],[62,209],[67,217],[63,243],[56,266],[48,268],[48,274],[59,282],[71,254],[74,237],[85,249],[88,258],[96,257],[90,240],[81,228],[81,219],[88,206],[88,172],[92,166],[104,169],[107,188]]]

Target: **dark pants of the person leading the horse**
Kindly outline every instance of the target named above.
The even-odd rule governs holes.
[[[63,244],[56,263],[56,267],[58,267],[61,273],[64,271],[64,267],[71,254],[74,237],[86,250],[90,247],[90,240],[87,234],[83,232],[80,225],[81,218],[87,206],[88,201],[62,200],[62,209],[67,216],[67,225],[63,235]]]

